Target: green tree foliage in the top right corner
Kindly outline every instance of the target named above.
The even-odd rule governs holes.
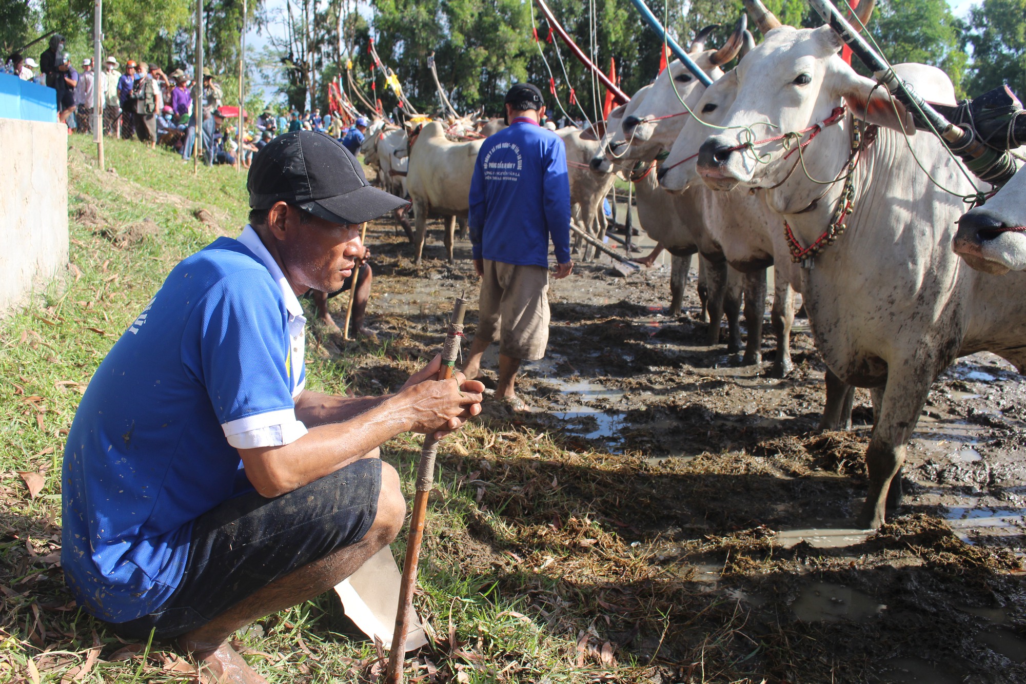
[[[1026,0],[983,0],[970,12],[965,39],[973,46],[971,94],[1008,83],[1026,97]]]

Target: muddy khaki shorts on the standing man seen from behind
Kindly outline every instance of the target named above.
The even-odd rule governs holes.
[[[499,353],[538,360],[549,343],[549,269],[484,260],[475,339],[495,342]]]

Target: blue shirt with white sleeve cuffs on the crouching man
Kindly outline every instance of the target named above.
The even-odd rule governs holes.
[[[192,522],[252,489],[237,449],[306,433],[305,322],[247,226],[175,266],[115,343],[65,449],[61,560],[90,613],[157,610],[182,579]]]

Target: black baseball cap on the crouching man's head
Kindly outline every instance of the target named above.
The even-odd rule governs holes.
[[[246,189],[251,208],[283,201],[332,223],[363,223],[409,204],[371,187],[352,152],[313,130],[268,143],[253,157]]]

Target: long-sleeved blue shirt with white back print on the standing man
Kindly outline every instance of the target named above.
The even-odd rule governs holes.
[[[489,136],[477,153],[470,183],[470,241],[474,259],[549,266],[570,260],[570,183],[559,136],[518,117]]]

